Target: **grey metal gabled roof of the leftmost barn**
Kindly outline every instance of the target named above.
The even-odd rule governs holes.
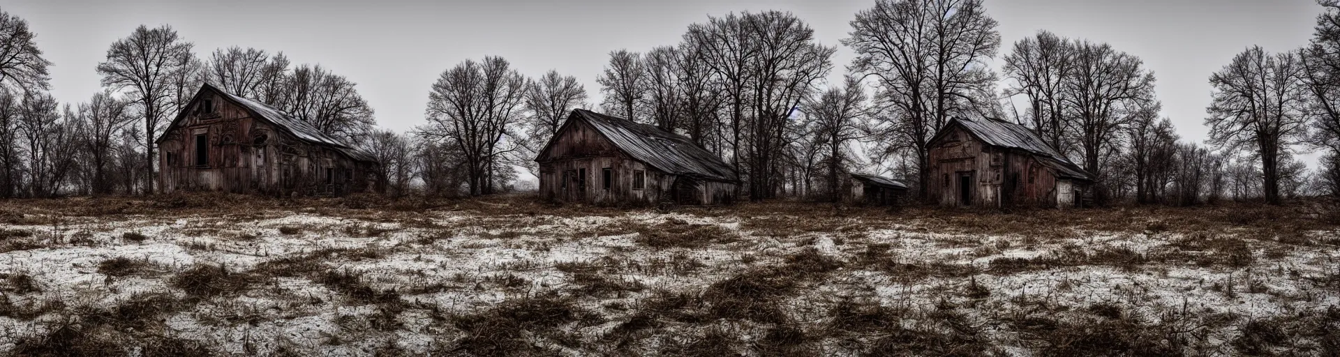
[[[224,90],[220,90],[218,87],[210,86],[209,83],[201,86],[200,91],[196,92],[196,98],[190,99],[190,103],[194,103],[198,99],[200,94],[205,92],[206,90],[217,92],[224,99],[245,108],[247,111],[251,112],[252,118],[269,122],[271,124],[275,124],[275,127],[287,131],[288,134],[292,134],[295,138],[300,140],[314,144],[334,147],[336,151],[340,151],[355,160],[367,160],[367,162],[377,160],[367,152],[363,152],[362,150],[346,144],[339,139],[326,135],[324,132],[316,130],[316,127],[308,124],[307,122],[303,122],[302,119],[293,118],[292,114],[288,114],[280,108],[272,107],[265,103],[260,103],[256,100],[243,98],[240,95],[226,92]],[[190,107],[192,107],[190,104],[186,106],[186,108]],[[162,139],[168,135],[168,132],[172,131],[174,126],[177,126],[177,122],[180,122],[182,118],[186,116],[186,112],[188,110],[182,110],[180,114],[177,114],[177,118],[173,119],[172,124],[168,126],[168,130],[163,130],[163,135],[158,136],[158,140],[155,140],[155,143],[162,142]]]

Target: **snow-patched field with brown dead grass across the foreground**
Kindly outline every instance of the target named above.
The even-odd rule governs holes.
[[[1061,237],[976,234],[824,210],[323,211],[0,223],[0,354],[51,348],[60,329],[80,332],[67,345],[133,356],[169,350],[143,340],[256,356],[1328,354],[1340,342],[1340,250],[1320,238],[1332,231],[1284,243],[1064,223]],[[133,269],[109,267],[117,258]],[[226,271],[205,285],[228,287],[192,287],[201,266]],[[143,301],[157,310],[137,314]]]

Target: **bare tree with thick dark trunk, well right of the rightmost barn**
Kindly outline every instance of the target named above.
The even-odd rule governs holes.
[[[1214,92],[1205,119],[1210,142],[1254,151],[1269,203],[1280,203],[1281,155],[1306,135],[1301,68],[1294,53],[1270,55],[1252,47],[1210,76]]]

